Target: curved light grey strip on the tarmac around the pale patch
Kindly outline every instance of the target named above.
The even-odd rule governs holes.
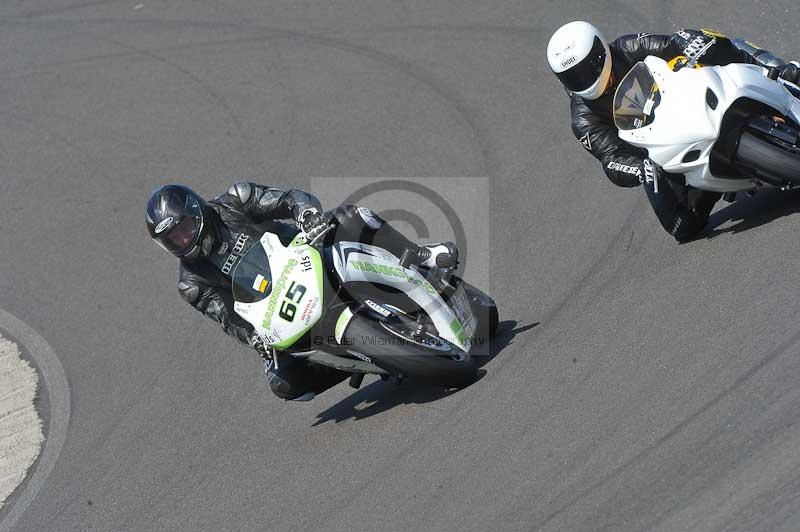
[[[44,386],[47,390],[47,397],[50,401],[50,419],[47,424],[47,440],[44,443],[44,450],[39,458],[39,463],[33,471],[28,483],[15,497],[13,506],[9,508],[5,519],[0,522],[0,532],[8,532],[16,524],[17,520],[28,509],[36,494],[44,486],[47,476],[58,460],[61,447],[67,438],[67,428],[69,427],[70,404],[69,404],[69,384],[61,361],[58,360],[55,351],[50,344],[41,337],[35,330],[22,320],[17,319],[8,312],[0,308],[0,329],[7,332],[11,337],[30,355],[39,368]],[[3,454],[0,452],[0,454]]]

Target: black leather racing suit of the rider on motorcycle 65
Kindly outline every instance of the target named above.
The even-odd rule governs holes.
[[[214,225],[217,242],[210,256],[181,260],[178,291],[187,303],[219,323],[228,335],[242,344],[252,345],[253,326],[233,310],[233,270],[264,231],[296,232],[300,214],[310,208],[321,210],[320,202],[301,190],[280,190],[241,182],[209,201],[208,206],[211,212],[206,216],[211,219],[205,223]],[[406,248],[416,249],[415,244],[369,209],[343,205],[331,214],[338,224],[335,238],[368,241],[398,256]],[[278,370],[274,365],[269,370],[267,381],[276,395],[294,399],[306,392],[320,393],[347,376],[331,368],[283,357]]]

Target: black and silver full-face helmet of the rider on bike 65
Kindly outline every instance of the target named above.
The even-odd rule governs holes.
[[[153,191],[145,209],[147,231],[156,243],[176,257],[195,259],[210,252],[211,236],[206,202],[183,185],[164,185]],[[204,241],[205,240],[205,241]]]

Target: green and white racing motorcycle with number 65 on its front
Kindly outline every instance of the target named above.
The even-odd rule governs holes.
[[[334,226],[329,226],[332,230]],[[234,309],[272,348],[352,374],[462,387],[478,369],[470,354],[497,329],[495,302],[448,272],[406,267],[361,242],[307,243],[267,232],[233,274]]]

